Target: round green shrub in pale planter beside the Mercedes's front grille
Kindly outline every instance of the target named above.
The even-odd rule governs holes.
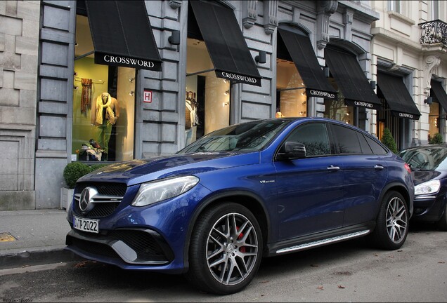
[[[66,210],[70,208],[76,181],[83,175],[86,175],[90,172],[90,166],[81,162],[72,162],[68,163],[67,166],[65,166],[63,177],[65,180],[65,184],[67,184],[67,187],[62,187],[60,189],[60,208],[65,208]]]

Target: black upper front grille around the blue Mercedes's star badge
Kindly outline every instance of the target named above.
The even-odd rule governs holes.
[[[98,191],[98,196],[93,197],[94,207],[84,213],[79,209],[79,199],[86,187],[95,188]],[[78,183],[74,189],[74,213],[82,217],[108,217],[117,209],[126,190],[127,185],[122,183]]]

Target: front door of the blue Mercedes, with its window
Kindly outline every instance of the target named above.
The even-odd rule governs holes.
[[[303,143],[306,158],[274,162],[279,240],[342,227],[344,175],[326,123],[300,125],[286,141]]]

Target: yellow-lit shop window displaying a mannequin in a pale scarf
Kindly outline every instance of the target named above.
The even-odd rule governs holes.
[[[136,71],[94,63],[89,20],[77,15],[72,154],[79,161],[134,159]]]

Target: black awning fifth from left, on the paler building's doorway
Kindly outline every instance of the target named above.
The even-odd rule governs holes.
[[[400,76],[377,73],[377,86],[387,100],[391,114],[406,119],[419,119],[419,109]]]

